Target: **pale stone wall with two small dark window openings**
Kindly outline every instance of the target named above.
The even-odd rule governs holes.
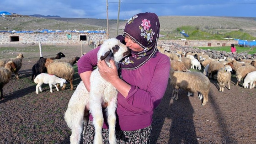
[[[80,32],[45,32],[45,33],[10,33],[0,32],[0,44],[30,44],[46,45],[102,43],[107,39],[107,33],[80,33]]]

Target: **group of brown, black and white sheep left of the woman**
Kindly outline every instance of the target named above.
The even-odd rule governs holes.
[[[77,63],[80,57],[70,58],[70,59],[61,59],[64,58],[63,53],[57,53],[54,58],[43,58],[40,57],[36,64],[32,66],[32,77],[31,80],[37,84],[36,93],[38,94],[38,89],[42,91],[41,85],[49,84],[50,91],[52,91],[52,85],[61,84],[62,90],[66,87],[66,81],[69,81],[71,90],[73,90],[73,76],[75,74],[75,69],[73,65]],[[15,74],[15,78],[18,80],[18,71],[22,66],[22,59],[24,58],[22,53],[19,53],[16,58],[11,59],[0,59],[0,91],[2,99],[3,96],[3,87],[6,85],[10,78],[11,74]],[[41,75],[42,74],[42,75]],[[43,75],[47,74],[47,75]],[[52,76],[54,75],[54,77]],[[58,78],[56,78],[58,77]],[[59,78],[63,80],[59,80]],[[57,85],[55,86],[57,91],[59,90]]]

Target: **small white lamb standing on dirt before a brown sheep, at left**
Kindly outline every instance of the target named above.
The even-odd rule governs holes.
[[[41,73],[36,76],[34,82],[37,84],[36,86],[36,93],[38,94],[38,89],[42,92],[42,85],[43,84],[49,84],[50,86],[50,92],[53,92],[53,85],[56,87],[56,90],[59,91],[57,87],[57,83],[60,84],[60,86],[63,86],[64,83],[66,83],[65,79],[59,78],[56,75],[49,75],[45,73]]]

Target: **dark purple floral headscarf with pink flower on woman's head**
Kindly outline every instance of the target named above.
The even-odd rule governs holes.
[[[144,50],[132,51],[131,56],[125,58],[120,65],[121,69],[134,70],[141,67],[155,56],[157,40],[159,38],[160,23],[155,13],[139,13],[131,17],[124,28],[123,37],[130,37]]]

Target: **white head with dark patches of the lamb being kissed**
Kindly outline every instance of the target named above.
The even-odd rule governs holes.
[[[107,63],[109,63],[110,59],[113,59],[117,64],[124,57],[128,56],[130,52],[130,49],[128,49],[118,39],[110,38],[102,43],[101,48],[97,54],[97,58],[98,60],[105,59]]]

